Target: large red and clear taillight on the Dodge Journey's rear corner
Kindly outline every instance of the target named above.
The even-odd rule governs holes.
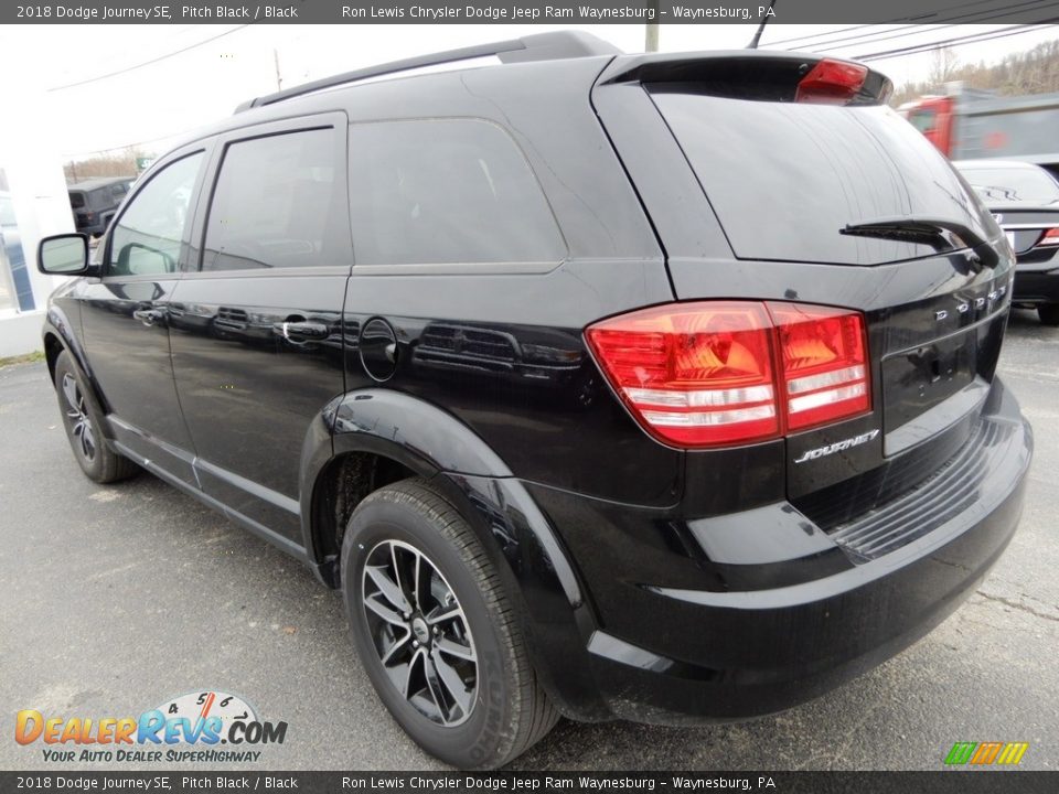
[[[871,407],[864,319],[795,303],[675,303],[586,330],[614,390],[678,447],[777,438]]]

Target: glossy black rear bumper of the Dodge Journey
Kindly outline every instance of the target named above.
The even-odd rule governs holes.
[[[878,525],[890,511],[892,521],[884,524],[903,533],[903,545],[873,558],[864,533],[859,539],[846,533],[853,539],[845,545],[836,540],[841,528],[825,535],[783,503],[771,517],[756,509],[724,522],[745,519],[750,543],[782,534],[790,522],[792,530],[814,537],[814,552],[757,566],[717,565],[707,552],[688,560],[698,588],[686,586],[689,573],[660,580],[663,552],[642,543],[672,525],[672,516],[644,512],[637,527],[627,505],[528,486],[573,551],[595,607],[592,624],[580,621],[584,645],[543,659],[554,667],[545,679],[561,680],[561,669],[580,657],[590,669],[582,686],[595,688],[590,699],[611,716],[735,721],[814,698],[897,654],[973,592],[1018,524],[1033,434],[999,380],[981,423],[969,446],[982,449],[964,450],[962,462],[950,466],[962,466],[953,478],[939,475],[914,497],[870,516]],[[696,527],[695,537],[706,537],[713,521]],[[920,525],[930,528],[916,532]],[[553,695],[570,705],[563,693]],[[576,706],[566,710],[576,716]]]

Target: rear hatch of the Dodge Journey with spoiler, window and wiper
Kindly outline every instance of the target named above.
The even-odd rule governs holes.
[[[967,442],[1009,307],[1003,233],[886,107],[888,93],[864,67],[739,52],[618,58],[593,94],[660,229],[677,300],[863,313],[869,411],[785,434],[788,498],[825,528],[914,487]],[[668,141],[650,138],[648,108]],[[674,143],[705,196],[698,208],[676,171],[668,193],[638,173],[645,147],[656,169],[676,163],[664,154]],[[673,232],[673,217],[694,234]]]

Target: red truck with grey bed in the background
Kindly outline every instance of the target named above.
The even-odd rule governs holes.
[[[1023,160],[1059,175],[1059,94],[1002,97],[961,83],[945,88],[944,96],[899,108],[942,153],[951,160]]]

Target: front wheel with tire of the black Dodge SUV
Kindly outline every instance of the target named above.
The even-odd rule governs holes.
[[[74,458],[89,480],[111,483],[139,472],[136,463],[107,446],[103,411],[67,351],[55,360],[55,393]]]

